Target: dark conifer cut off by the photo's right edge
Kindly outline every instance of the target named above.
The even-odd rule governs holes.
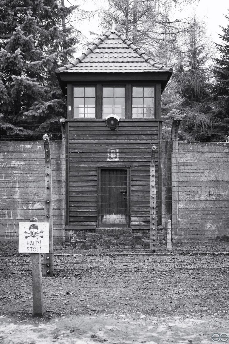
[[[225,17],[229,20],[227,15]],[[213,134],[215,140],[224,141],[229,133],[229,24],[226,28],[220,27],[223,34],[219,34],[219,37],[223,43],[216,44],[220,57],[215,59],[213,96],[216,100],[215,116],[221,122]]]

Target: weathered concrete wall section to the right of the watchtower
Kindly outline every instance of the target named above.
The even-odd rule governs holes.
[[[178,224],[173,239],[229,239],[229,144],[178,145]],[[173,161],[172,161],[173,170]]]

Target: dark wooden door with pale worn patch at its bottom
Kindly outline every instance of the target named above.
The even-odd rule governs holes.
[[[101,226],[127,227],[129,222],[129,192],[127,170],[102,170]]]

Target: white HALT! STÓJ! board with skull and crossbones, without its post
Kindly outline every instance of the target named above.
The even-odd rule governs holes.
[[[19,253],[49,252],[48,222],[19,222]]]

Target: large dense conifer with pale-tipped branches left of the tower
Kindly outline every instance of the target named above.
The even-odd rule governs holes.
[[[66,100],[55,68],[73,58],[77,43],[62,18],[77,9],[55,0],[0,0],[0,139],[48,130],[59,137]]]

